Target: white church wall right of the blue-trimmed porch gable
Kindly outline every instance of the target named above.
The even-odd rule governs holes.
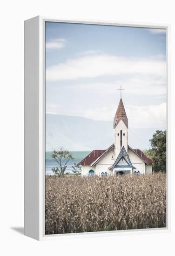
[[[136,168],[134,171],[140,171],[141,174],[145,174],[145,162],[141,160],[141,158],[136,155],[131,149],[128,148],[128,155],[132,162],[132,165]]]

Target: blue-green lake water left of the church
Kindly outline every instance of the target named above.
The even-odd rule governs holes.
[[[81,160],[87,156],[91,151],[70,151],[72,155],[74,155],[74,160],[67,163],[66,172],[72,173],[72,166],[75,163],[81,162]],[[52,158],[52,152],[46,152],[46,160],[45,160],[45,174],[46,175],[53,175],[52,168],[57,167],[57,163]]]

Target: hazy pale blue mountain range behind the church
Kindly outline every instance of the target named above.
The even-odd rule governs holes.
[[[162,128],[129,128],[128,144],[148,149],[149,139]],[[46,151],[106,149],[114,142],[113,121],[94,121],[80,116],[46,114]]]

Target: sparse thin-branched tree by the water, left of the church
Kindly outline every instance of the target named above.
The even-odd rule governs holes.
[[[54,158],[57,163],[56,168],[52,168],[54,175],[63,176],[65,174],[67,163],[70,160],[74,160],[74,156],[64,148],[59,148],[58,151],[54,150],[52,153],[52,158]]]

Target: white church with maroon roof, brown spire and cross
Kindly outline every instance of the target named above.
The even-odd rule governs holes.
[[[114,143],[111,146],[107,149],[94,149],[80,162],[81,175],[152,173],[153,161],[140,149],[128,145],[128,117],[122,98],[114,116],[113,132]]]

